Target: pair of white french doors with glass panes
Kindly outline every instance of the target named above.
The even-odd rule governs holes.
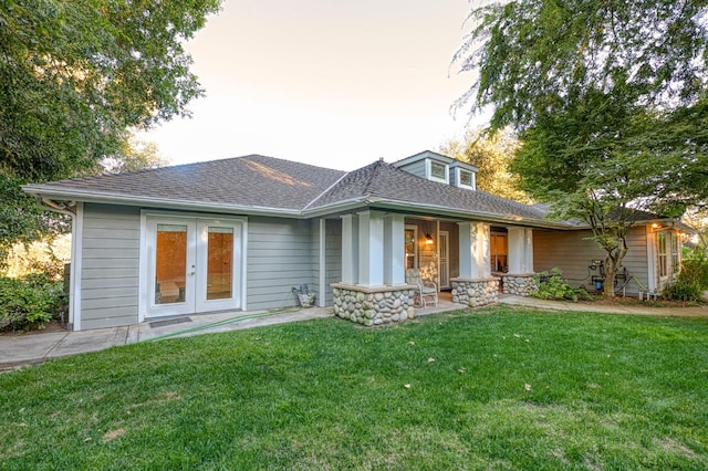
[[[241,307],[241,221],[146,218],[146,316]]]

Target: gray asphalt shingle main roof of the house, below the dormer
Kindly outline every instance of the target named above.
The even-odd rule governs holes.
[[[35,193],[62,192],[93,197],[131,197],[133,200],[174,200],[219,203],[273,210],[324,210],[345,201],[366,198],[416,203],[435,213],[489,214],[489,219],[544,221],[544,211],[480,190],[429,181],[405,170],[375,161],[351,172],[251,155],[223,160],[186,164],[136,172],[75,178],[30,185]]]

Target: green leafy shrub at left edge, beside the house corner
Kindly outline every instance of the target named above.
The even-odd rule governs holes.
[[[44,328],[64,308],[63,283],[48,275],[0,278],[0,320],[13,329]]]

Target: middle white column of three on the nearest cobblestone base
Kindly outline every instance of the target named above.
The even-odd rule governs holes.
[[[384,285],[384,214],[358,213],[358,284]]]

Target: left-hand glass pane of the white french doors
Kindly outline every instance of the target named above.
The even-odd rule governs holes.
[[[157,224],[155,304],[185,302],[187,226]]]

